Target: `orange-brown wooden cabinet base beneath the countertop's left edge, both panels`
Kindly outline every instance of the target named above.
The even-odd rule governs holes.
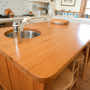
[[[44,84],[0,55],[0,90],[44,90]]]

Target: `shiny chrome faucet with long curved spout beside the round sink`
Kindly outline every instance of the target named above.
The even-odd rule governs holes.
[[[47,19],[47,17],[42,16],[42,17],[26,17],[22,20],[14,20],[13,22],[13,37],[16,38],[18,40],[18,42],[22,42],[22,38],[23,38],[23,33],[24,33],[24,26],[26,24],[31,24],[32,20],[37,20],[37,19],[41,19],[44,18],[44,20]]]

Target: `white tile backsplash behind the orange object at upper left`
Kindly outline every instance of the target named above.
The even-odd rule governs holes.
[[[0,0],[0,14],[4,14],[6,8],[12,9],[15,15],[28,13],[31,5],[28,0]]]

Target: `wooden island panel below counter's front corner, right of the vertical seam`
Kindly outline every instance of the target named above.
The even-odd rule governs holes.
[[[13,90],[44,90],[44,84],[32,78],[23,69],[8,61]]]

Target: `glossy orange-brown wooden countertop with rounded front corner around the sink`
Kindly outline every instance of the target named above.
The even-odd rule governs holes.
[[[88,24],[60,26],[44,22],[25,28],[40,31],[41,35],[17,43],[17,40],[4,36],[12,27],[0,28],[0,51],[10,56],[23,71],[40,80],[61,72],[90,40]]]

